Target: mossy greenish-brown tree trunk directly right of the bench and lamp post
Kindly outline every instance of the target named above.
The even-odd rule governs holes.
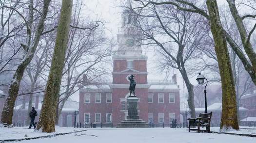
[[[222,87],[222,113],[220,130],[239,129],[236,112],[236,91],[232,67],[228,54],[225,33],[220,22],[217,1],[207,0],[211,32],[215,41],[219,73]]]

